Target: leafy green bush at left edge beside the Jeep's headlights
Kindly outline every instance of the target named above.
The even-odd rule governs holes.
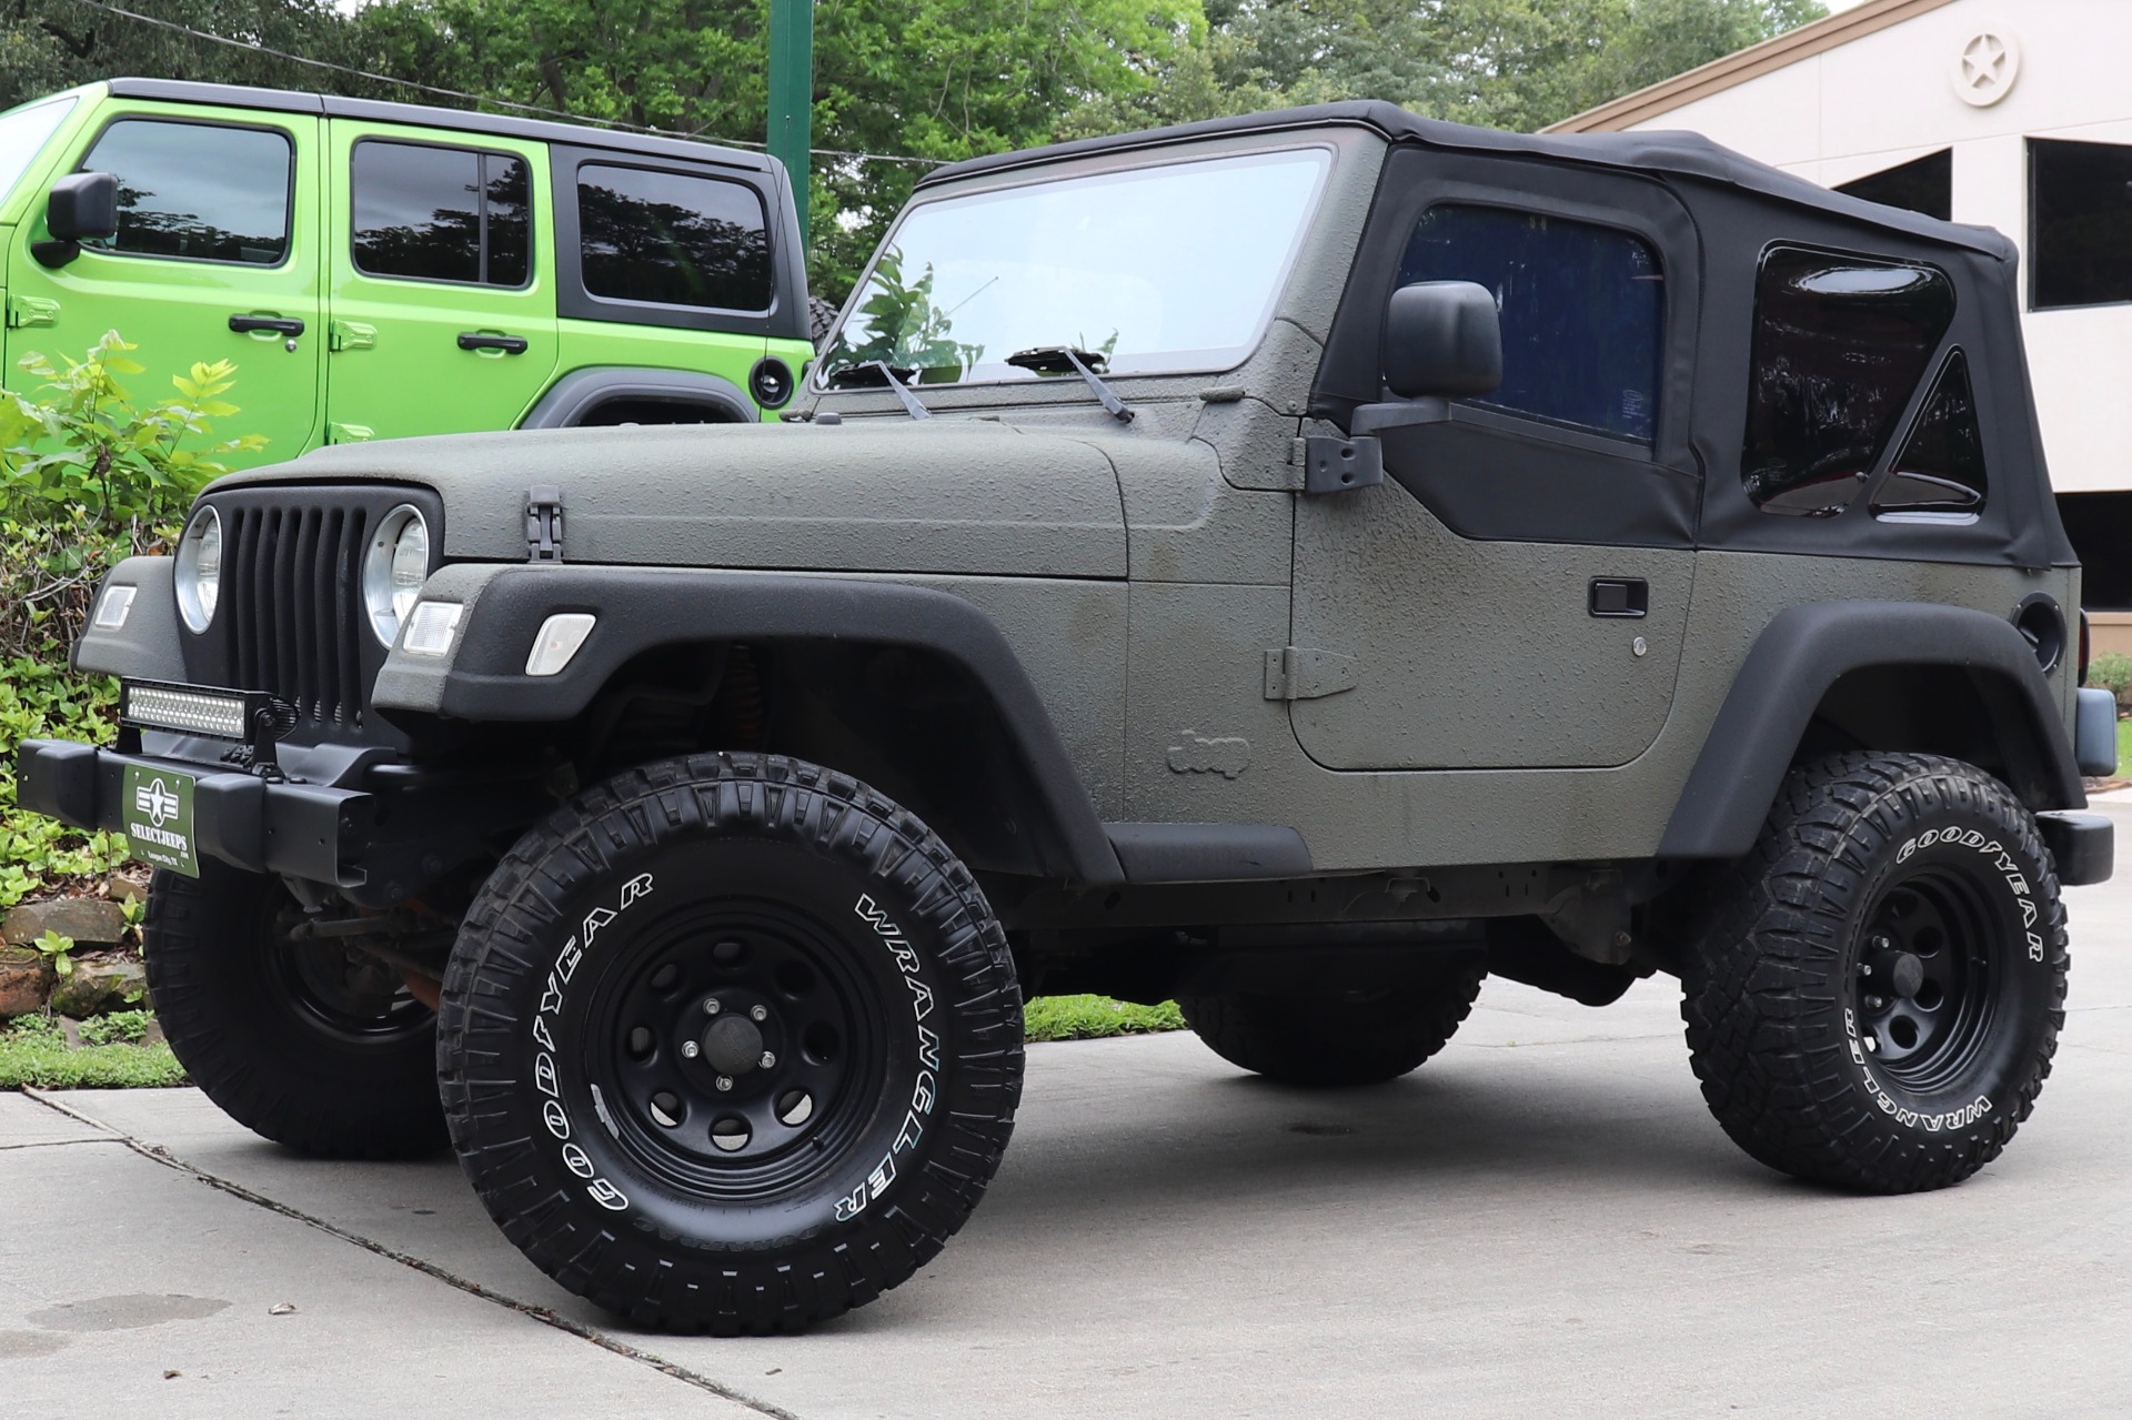
[[[104,742],[117,687],[72,676],[66,650],[87,625],[102,576],[126,556],[164,552],[222,454],[258,435],[213,441],[235,382],[228,360],[175,375],[175,399],[136,405],[139,375],[117,330],[81,358],[32,354],[30,394],[0,390],[0,908],[126,859],[113,834],[81,834],[15,808],[15,746],[30,738]]]

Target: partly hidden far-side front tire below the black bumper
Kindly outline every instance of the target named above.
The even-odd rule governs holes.
[[[143,955],[171,1053],[222,1113],[301,1153],[441,1151],[437,1017],[382,962],[279,940],[296,913],[279,878],[211,859],[156,874]]]

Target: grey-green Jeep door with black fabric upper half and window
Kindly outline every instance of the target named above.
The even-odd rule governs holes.
[[[1633,177],[1420,151],[1386,192],[1373,309],[1480,281],[1505,377],[1384,431],[1384,484],[1298,499],[1296,738],[1337,770],[1627,763],[1671,708],[1695,567],[1689,217]]]

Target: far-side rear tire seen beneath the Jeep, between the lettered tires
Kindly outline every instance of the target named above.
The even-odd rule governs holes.
[[[1435,981],[1350,996],[1179,998],[1192,1032],[1230,1064],[1283,1085],[1379,1085],[1443,1049],[1480,996],[1488,959],[1443,953]]]

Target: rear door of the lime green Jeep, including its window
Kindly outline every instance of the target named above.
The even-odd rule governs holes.
[[[328,119],[330,441],[512,429],[554,375],[539,143]]]

